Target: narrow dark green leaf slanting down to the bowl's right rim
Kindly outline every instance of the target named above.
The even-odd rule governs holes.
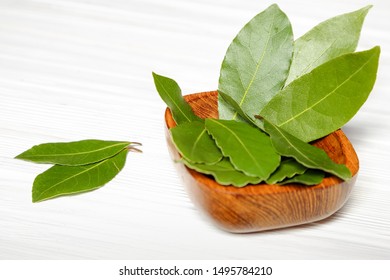
[[[343,180],[351,178],[351,171],[344,164],[332,161],[324,150],[303,142],[267,120],[264,120],[264,129],[282,156],[292,157],[308,168],[326,171]]]

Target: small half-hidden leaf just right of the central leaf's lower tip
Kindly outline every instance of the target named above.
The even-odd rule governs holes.
[[[307,170],[305,166],[292,158],[282,160],[278,169],[266,180],[267,184],[276,184],[286,178],[291,178],[297,174],[302,174]]]

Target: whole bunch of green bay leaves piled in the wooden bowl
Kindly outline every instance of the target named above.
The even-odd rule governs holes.
[[[181,161],[236,187],[315,185],[327,174],[348,180],[350,170],[310,142],[347,123],[374,86],[380,48],[355,52],[370,8],[324,21],[297,40],[277,5],[256,15],[222,62],[219,119],[197,117],[178,84],[153,73],[177,124],[170,135]]]

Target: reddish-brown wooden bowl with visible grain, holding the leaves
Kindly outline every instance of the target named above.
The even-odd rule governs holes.
[[[184,98],[199,117],[218,118],[216,91],[191,94]],[[169,128],[176,124],[169,109],[165,112],[165,121],[168,147],[172,158],[177,160],[180,155],[169,134]],[[319,185],[311,187],[258,184],[236,188],[222,186],[211,176],[175,162],[192,201],[217,226],[230,232],[256,232],[327,218],[348,199],[359,169],[359,161],[351,143],[341,130],[337,130],[313,145],[325,150],[335,162],[345,163],[353,177],[342,181],[329,176]]]

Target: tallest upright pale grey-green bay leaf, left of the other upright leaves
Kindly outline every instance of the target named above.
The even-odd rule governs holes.
[[[222,62],[218,90],[231,96],[251,117],[283,87],[293,53],[287,16],[274,4],[251,19],[230,44]],[[218,100],[220,119],[238,119]]]

